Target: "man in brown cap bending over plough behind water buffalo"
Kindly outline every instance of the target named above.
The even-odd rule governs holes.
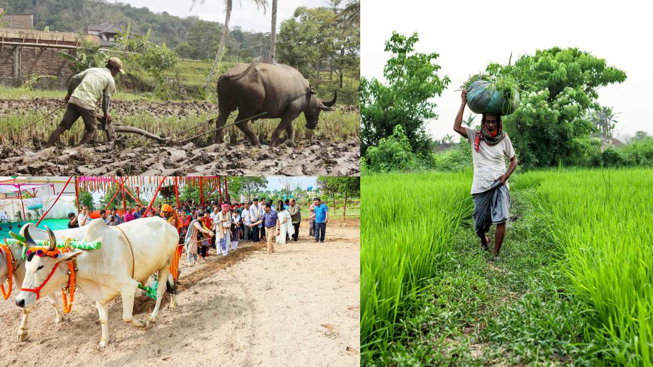
[[[100,100],[102,100],[102,112],[104,114],[102,118],[105,124],[104,131],[108,140],[113,139],[114,129],[110,125],[109,102],[111,93],[116,91],[114,78],[118,72],[125,74],[122,61],[118,57],[110,57],[104,67],[91,67],[71,78],[68,84],[68,94],[64,99],[68,103],[66,112],[63,114],[59,127],[50,134],[46,148],[54,146],[59,141],[59,136],[64,131],[70,130],[72,124],[80,116],[84,120],[84,128],[86,129],[80,144],[91,142],[97,130],[95,104]]]

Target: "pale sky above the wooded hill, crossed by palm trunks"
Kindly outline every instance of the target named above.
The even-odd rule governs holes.
[[[153,12],[168,12],[168,14],[185,17],[199,16],[202,20],[212,22],[225,22],[225,4],[222,0],[206,0],[204,4],[197,3],[191,11],[192,2],[189,0],[120,0],[121,3],[127,3],[133,7],[146,7]],[[279,0],[277,4],[277,29],[281,21],[292,18],[293,12],[298,7],[326,7],[327,0]],[[342,7],[343,5],[341,5]],[[272,29],[272,16],[270,8],[272,0],[268,0],[268,10],[263,14],[263,10],[258,10],[251,0],[234,0],[234,7],[231,11],[229,27],[240,25],[246,31],[269,32]]]

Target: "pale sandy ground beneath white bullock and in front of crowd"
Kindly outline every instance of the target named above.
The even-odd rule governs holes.
[[[272,256],[263,243],[245,243],[227,257],[184,263],[178,308],[165,302],[150,330],[124,323],[116,298],[104,349],[97,349],[95,303],[81,293],[61,325],[40,300],[23,343],[16,341],[20,310],[1,301],[0,366],[358,366],[358,223],[332,220],[324,244],[307,234],[302,223],[300,241]],[[139,294],[135,315],[146,318],[153,300]]]

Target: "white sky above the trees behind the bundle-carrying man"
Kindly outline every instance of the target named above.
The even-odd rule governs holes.
[[[438,120],[426,129],[435,138],[455,135],[460,89],[489,62],[505,64],[536,49],[577,46],[626,72],[626,81],[599,89],[599,104],[620,112],[619,138],[653,133],[653,31],[649,1],[396,1],[366,0],[360,25],[360,67],[366,78],[383,80],[392,31],[419,33],[418,52],[438,52],[439,76],[451,83],[437,97]],[[470,114],[466,108],[465,118]],[[477,118],[477,120],[480,117]],[[477,121],[478,122],[478,121]]]

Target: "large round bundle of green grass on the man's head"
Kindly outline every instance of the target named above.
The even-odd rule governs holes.
[[[519,106],[519,85],[507,75],[476,74],[462,86],[467,105],[475,114],[512,114]]]

